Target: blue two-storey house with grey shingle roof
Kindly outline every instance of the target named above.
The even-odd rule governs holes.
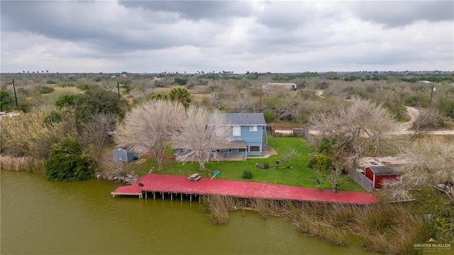
[[[260,156],[268,149],[265,117],[262,113],[222,114],[231,126],[229,143],[220,148],[223,156]]]

